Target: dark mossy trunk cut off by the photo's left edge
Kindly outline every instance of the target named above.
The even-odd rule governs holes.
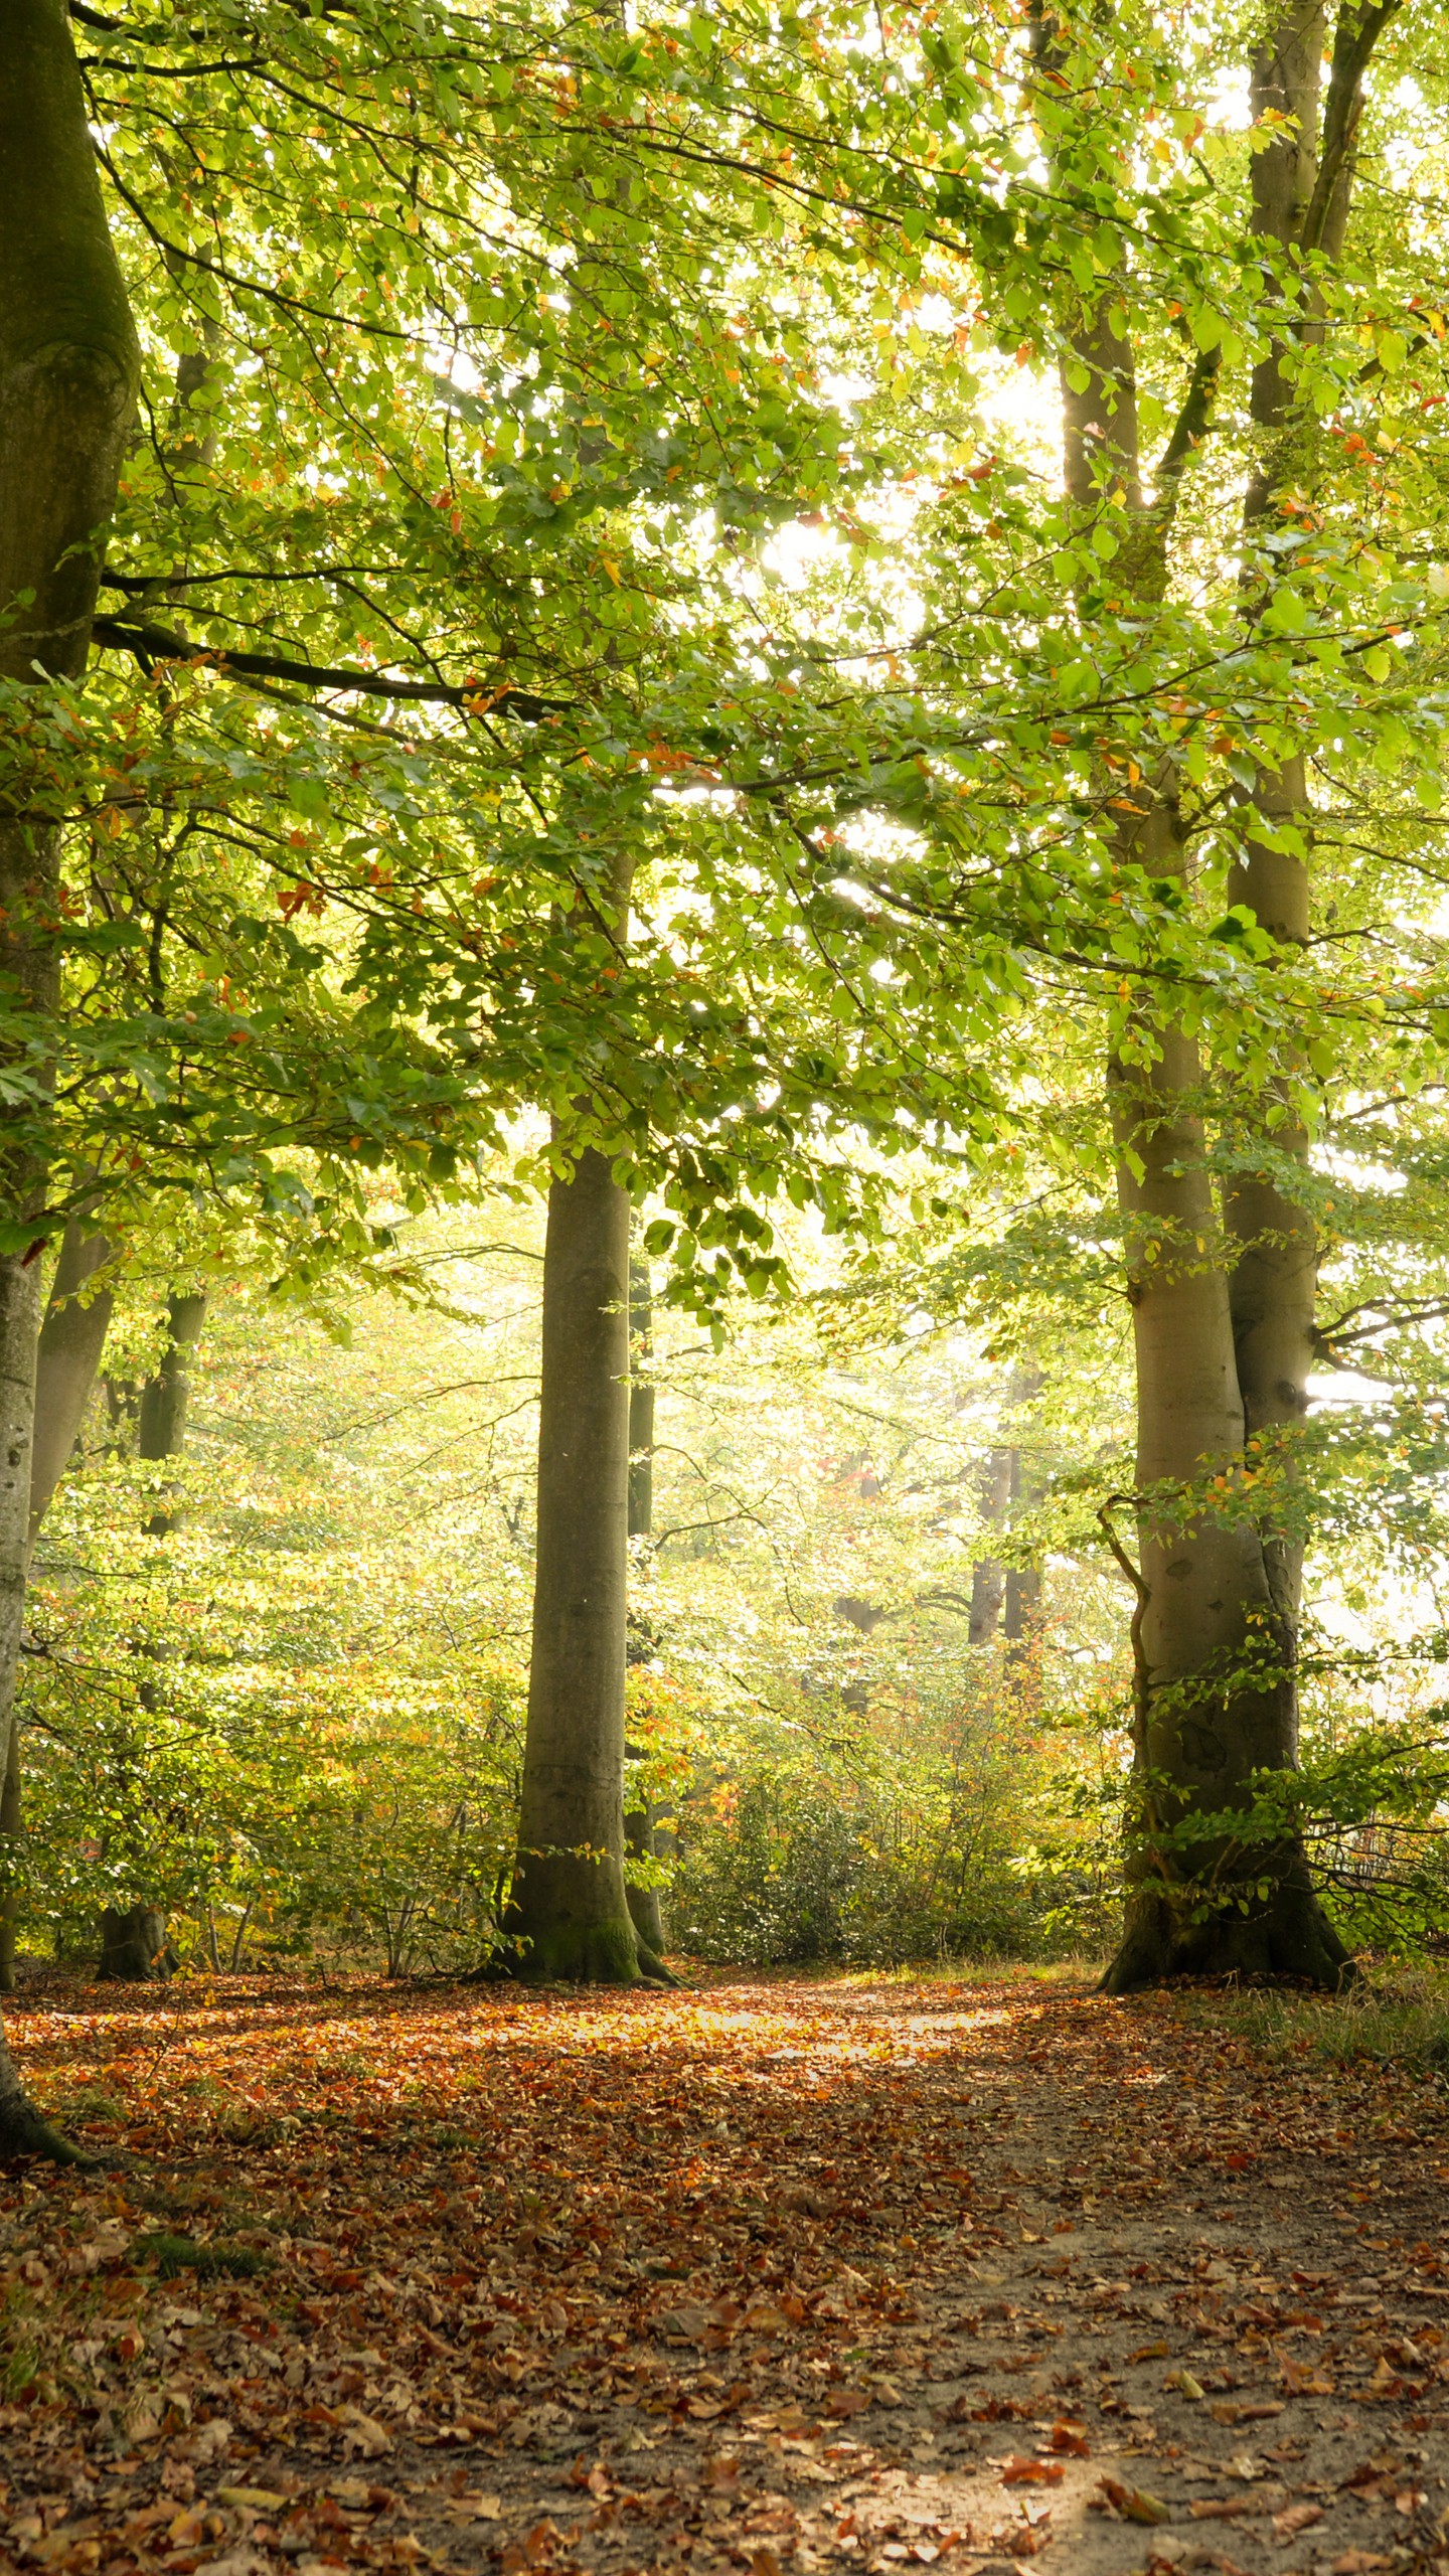
[[[62,0],[0,15],[0,680],[85,667],[103,528],[131,425],[137,335],[111,250],[85,93]],[[59,999],[59,829],[0,811],[0,981],[34,1010]],[[10,1221],[36,1218],[46,1175],[10,1151]],[[31,1538],[39,1234],[0,1255],[0,1739],[10,1747]],[[57,2154],[0,2040],[0,2154]]]

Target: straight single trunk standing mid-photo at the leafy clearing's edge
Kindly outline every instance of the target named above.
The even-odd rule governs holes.
[[[624,1891],[629,1193],[588,1146],[549,1190],[534,1659],[505,1932],[526,1978],[663,1973]]]

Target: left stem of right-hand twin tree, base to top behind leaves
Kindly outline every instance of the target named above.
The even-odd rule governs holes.
[[[1302,67],[1315,36],[1302,0],[1284,10],[1263,59]],[[1052,70],[1055,21],[1036,18],[1036,57]],[[1294,139],[1297,152],[1297,139]],[[1292,170],[1276,167],[1287,193]],[[1080,510],[1116,495],[1127,544],[1119,587],[1145,611],[1165,592],[1176,492],[1212,392],[1194,368],[1183,415],[1155,471],[1152,500],[1137,438],[1132,345],[1111,332],[1122,281],[1075,325],[1075,386],[1062,379],[1065,487]],[[1119,855],[1152,876],[1183,873],[1168,775],[1140,791],[1119,824]],[[1276,1847],[1196,1819],[1248,1811],[1256,1772],[1297,1759],[1292,1623],[1271,1543],[1222,1520],[1212,1476],[1243,1458],[1243,1386],[1222,1244],[1207,1170],[1204,1066],[1186,1030],[1142,1002],[1109,1069],[1116,1195],[1137,1358],[1137,1587],[1134,1777],[1129,1793],[1127,1924],[1109,1991],[1196,1971],[1292,1973],[1341,1981],[1346,1950],[1310,1886],[1297,1839]],[[1302,1247],[1299,1247],[1302,1260]],[[1116,1543],[1116,1540],[1114,1540]],[[1119,1543],[1116,1543],[1119,1546]],[[1122,1551],[1119,1551],[1122,1553]]]

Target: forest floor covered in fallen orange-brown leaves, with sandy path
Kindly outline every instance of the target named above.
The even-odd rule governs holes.
[[[0,2174],[23,2576],[1449,2576],[1449,2102],[1403,2071],[1034,1976],[8,2027],[129,2159]]]

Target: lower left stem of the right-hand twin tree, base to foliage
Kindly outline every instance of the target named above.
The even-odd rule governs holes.
[[[1158,858],[1152,858],[1158,866]],[[1243,1396],[1194,1043],[1160,1030],[1150,1066],[1114,1066],[1119,1203],[1137,1352],[1140,1602],[1127,1924],[1106,1991],[1165,1976],[1284,1973],[1338,1984],[1346,1950],[1302,1847],[1176,1839],[1253,1803],[1294,1767],[1294,1690],[1261,1533],[1214,1517],[1204,1484],[1243,1458]],[[1178,1507],[1176,1492],[1196,1494]]]

